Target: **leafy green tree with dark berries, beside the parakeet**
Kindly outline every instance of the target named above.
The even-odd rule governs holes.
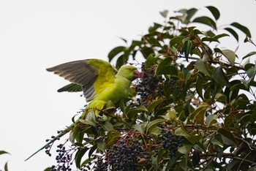
[[[238,41],[237,31],[254,45],[251,34],[240,23],[219,28],[219,10],[206,9],[211,17],[160,12],[165,23],[110,51],[116,68],[145,58],[142,77],[117,110],[105,107],[108,118],[90,113],[75,126],[52,170],[73,162],[80,170],[256,170],[256,52],[220,48],[223,37]]]

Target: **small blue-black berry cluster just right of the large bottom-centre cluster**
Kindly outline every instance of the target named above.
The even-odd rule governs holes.
[[[178,148],[182,146],[182,138],[181,136],[176,136],[170,130],[165,131],[165,129],[161,130],[162,133],[162,148],[165,148],[169,151],[169,156],[176,156]]]

